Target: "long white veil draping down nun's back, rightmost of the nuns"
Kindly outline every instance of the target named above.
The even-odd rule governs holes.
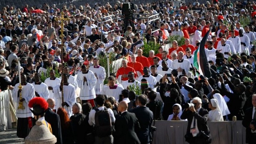
[[[219,110],[220,110],[220,112],[222,113],[223,116],[230,114],[229,108],[227,108],[227,104],[225,102],[225,99],[219,93],[215,93],[213,95],[213,98],[215,98],[218,101]]]

